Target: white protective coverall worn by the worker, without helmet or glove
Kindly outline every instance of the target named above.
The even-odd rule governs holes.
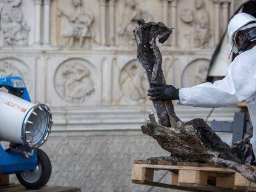
[[[179,104],[187,106],[224,107],[244,100],[254,127],[250,143],[256,154],[256,46],[231,62],[223,80],[179,90]]]

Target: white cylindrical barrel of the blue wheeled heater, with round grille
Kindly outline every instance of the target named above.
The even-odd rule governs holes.
[[[44,104],[33,104],[0,91],[0,140],[38,148],[51,131],[51,112]]]

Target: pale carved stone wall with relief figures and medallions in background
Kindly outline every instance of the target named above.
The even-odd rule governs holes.
[[[166,152],[140,131],[152,106],[136,60],[136,20],[175,27],[161,46],[163,70],[168,83],[182,88],[205,81],[211,54],[239,3],[0,1],[0,72],[23,77],[32,100],[53,111],[53,133],[43,146],[53,162],[49,185],[97,192],[149,189],[130,183],[131,162]],[[176,109],[184,121],[210,112]],[[232,120],[238,110],[216,109],[208,120]]]

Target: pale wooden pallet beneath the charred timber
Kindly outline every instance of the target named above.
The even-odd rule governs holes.
[[[170,171],[170,183],[155,182],[156,170]],[[256,191],[255,183],[234,170],[200,163],[134,161],[132,183],[184,191]]]

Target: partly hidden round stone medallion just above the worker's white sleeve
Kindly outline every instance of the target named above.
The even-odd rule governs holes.
[[[190,62],[182,73],[182,87],[195,86],[206,81],[210,61],[197,59]]]

